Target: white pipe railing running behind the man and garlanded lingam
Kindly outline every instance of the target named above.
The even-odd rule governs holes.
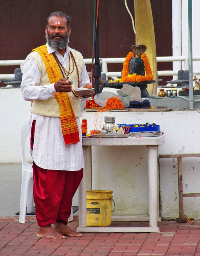
[[[102,73],[106,74],[106,77],[121,77],[121,71],[108,71],[109,63],[123,63],[125,58],[102,58],[100,59],[102,65]],[[157,57],[157,62],[174,62],[182,61],[184,63],[184,70],[188,70],[188,57],[187,56],[165,56]],[[200,56],[194,56],[193,61],[200,60]],[[0,66],[17,66],[22,69],[24,60],[0,60]],[[92,64],[92,59],[84,59],[86,64]],[[179,70],[158,70],[158,76],[177,76]],[[193,70],[193,74],[200,75],[200,70]],[[0,74],[0,79],[13,79],[14,74]]]

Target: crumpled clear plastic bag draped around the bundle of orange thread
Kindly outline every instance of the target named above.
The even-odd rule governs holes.
[[[122,97],[120,95],[115,94],[114,92],[101,92],[98,93],[94,96],[94,100],[95,102],[101,106],[104,107],[106,104],[106,101],[111,97],[117,97],[119,100],[121,100],[121,102],[124,105],[124,108],[128,108],[129,107],[129,100],[126,99],[125,97]]]

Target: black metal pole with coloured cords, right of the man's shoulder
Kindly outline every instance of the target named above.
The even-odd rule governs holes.
[[[95,94],[98,94],[99,78],[101,77],[101,64],[99,63],[99,10],[96,24],[95,63],[93,64],[93,77],[95,78]]]

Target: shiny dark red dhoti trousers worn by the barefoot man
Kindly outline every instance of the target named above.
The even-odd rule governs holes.
[[[35,120],[31,129],[33,148]],[[33,162],[33,195],[38,226],[55,222],[67,224],[71,214],[72,199],[83,177],[80,171],[47,170]]]

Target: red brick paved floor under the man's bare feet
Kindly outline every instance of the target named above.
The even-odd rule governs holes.
[[[35,216],[21,224],[19,217],[0,218],[1,256],[200,256],[200,220],[162,221],[159,233],[85,233],[82,237],[51,240],[36,237]],[[114,222],[135,225],[135,222]],[[139,226],[148,223],[137,222]],[[69,226],[78,226],[78,217]]]

